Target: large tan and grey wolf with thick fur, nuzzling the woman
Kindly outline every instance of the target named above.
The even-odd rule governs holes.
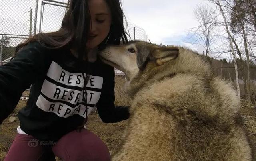
[[[197,53],[131,41],[99,55],[125,73],[132,100],[113,161],[254,160],[236,91]]]

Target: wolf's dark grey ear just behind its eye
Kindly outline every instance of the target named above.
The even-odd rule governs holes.
[[[150,50],[146,47],[137,47],[137,65],[138,68],[141,70],[145,67],[146,61],[148,60]]]

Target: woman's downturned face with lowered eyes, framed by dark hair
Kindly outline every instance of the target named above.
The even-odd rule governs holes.
[[[91,14],[91,28],[86,47],[97,47],[108,35],[111,25],[111,12],[105,0],[88,0]]]

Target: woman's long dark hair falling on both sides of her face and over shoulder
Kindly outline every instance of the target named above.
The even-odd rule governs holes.
[[[24,41],[16,47],[15,54],[32,41],[42,42],[46,47],[60,48],[64,46],[72,47],[79,54],[79,57],[86,51],[85,44],[87,35],[90,30],[90,11],[88,8],[88,0],[68,0],[68,10],[62,20],[61,28],[56,32],[38,33],[33,37]],[[111,15],[112,24],[110,32],[102,44],[127,43],[126,31],[124,29],[125,16],[122,11],[122,5],[119,0],[105,0],[108,4]]]

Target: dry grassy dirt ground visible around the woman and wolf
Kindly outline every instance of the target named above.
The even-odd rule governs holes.
[[[116,91],[122,91],[122,87],[116,86]],[[127,105],[128,100],[125,99],[123,93],[117,93],[116,105]],[[23,96],[28,96],[28,92],[24,92]],[[123,101],[121,101],[123,100]],[[17,133],[16,128],[19,125],[17,118],[18,111],[26,105],[26,100],[20,100],[18,106],[10,116],[16,117],[14,122],[9,122],[10,116],[4,120],[0,126],[0,161],[3,160],[10,145]],[[245,105],[245,101],[242,101],[242,106]],[[255,106],[254,106],[255,107]],[[246,124],[246,128],[249,130],[249,136],[254,145],[256,145],[256,108],[242,107],[241,112]],[[103,123],[96,112],[92,112],[88,118],[87,128],[98,135],[108,146],[110,153],[113,154],[120,147],[122,133],[127,121],[119,123],[105,124]],[[256,147],[255,147],[256,148]],[[57,159],[57,161],[60,161]]]

